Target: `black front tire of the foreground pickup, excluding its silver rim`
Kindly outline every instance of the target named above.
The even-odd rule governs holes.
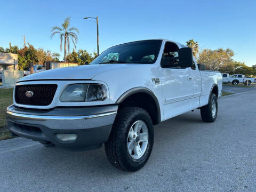
[[[133,159],[127,148],[127,137],[134,122],[141,120],[148,128],[148,145],[139,159]],[[105,151],[109,162],[124,171],[138,171],[143,167],[151,154],[154,143],[153,122],[145,109],[125,107],[118,111],[110,137],[105,143]]]

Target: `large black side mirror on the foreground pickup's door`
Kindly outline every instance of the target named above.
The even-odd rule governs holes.
[[[178,50],[179,66],[182,68],[193,67],[193,53],[190,47],[183,47]]]

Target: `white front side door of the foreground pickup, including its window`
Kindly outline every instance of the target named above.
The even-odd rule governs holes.
[[[174,59],[171,65],[166,68],[166,58],[178,57],[178,45],[173,42],[166,42],[161,61],[161,77],[163,90],[164,119],[186,113],[195,108],[199,103],[199,97],[194,98],[194,73],[192,69],[178,67],[179,60]]]

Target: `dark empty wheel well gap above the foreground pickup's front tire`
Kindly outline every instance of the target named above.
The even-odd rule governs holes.
[[[123,107],[141,107],[145,109],[150,115],[153,124],[156,125],[161,122],[160,109],[159,105],[156,104],[156,101],[151,97],[151,95],[143,92],[134,93],[119,103],[119,109]]]

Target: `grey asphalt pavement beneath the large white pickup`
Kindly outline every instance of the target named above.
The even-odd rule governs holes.
[[[153,153],[135,173],[111,166],[103,148],[0,141],[0,191],[255,191],[255,94],[219,99],[214,123],[195,110],[155,126]]]

